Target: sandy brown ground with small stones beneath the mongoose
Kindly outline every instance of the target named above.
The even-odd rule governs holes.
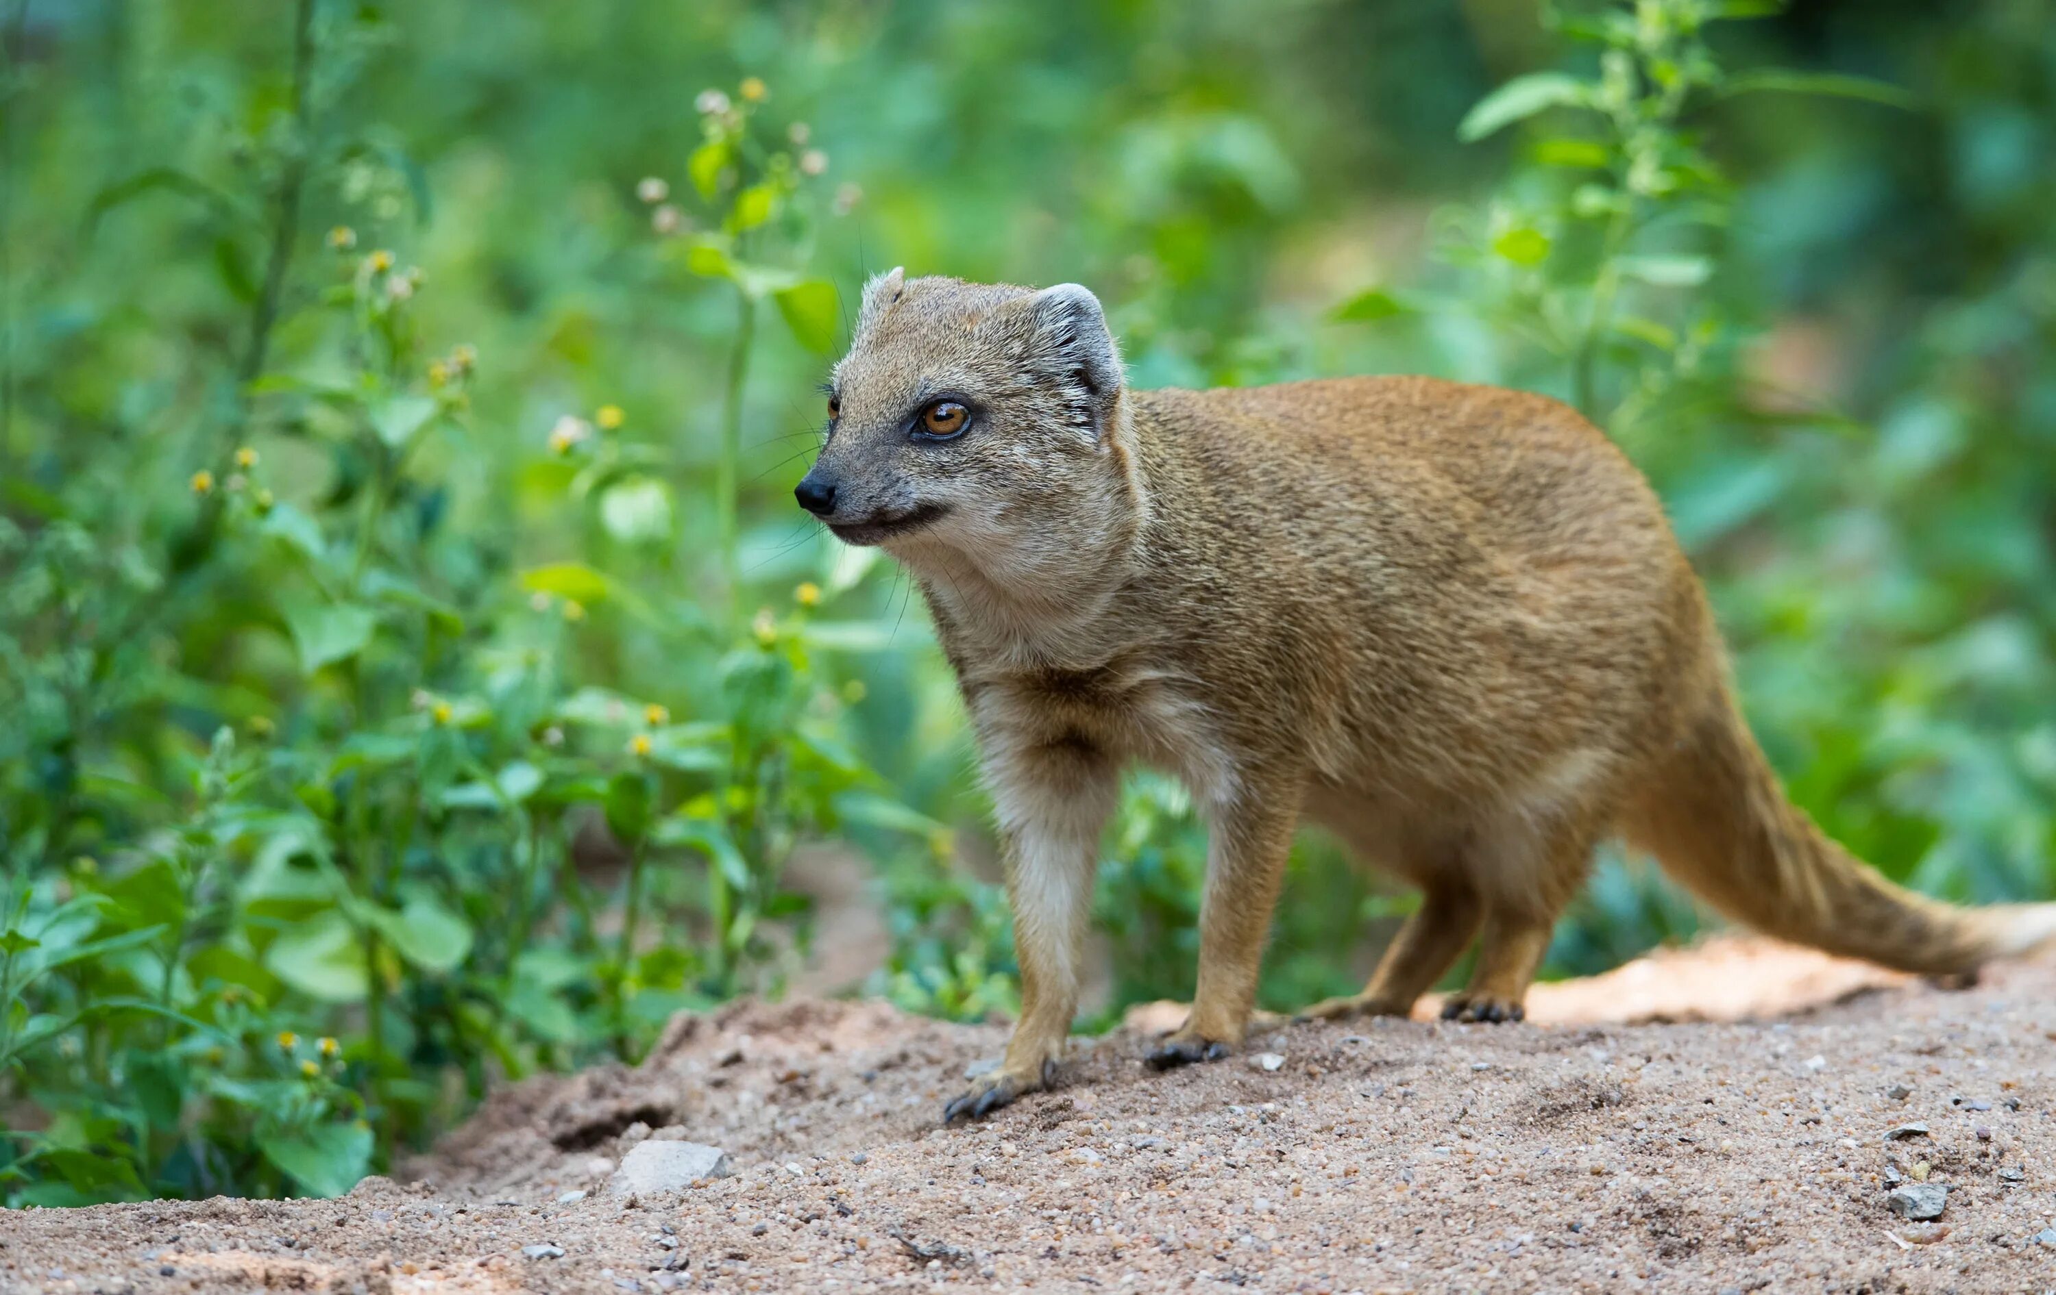
[[[1723,941],[1534,1009],[1283,1026],[1170,1075],[1123,1030],[938,1128],[1001,1028],[738,1005],[500,1094],[407,1186],[0,1215],[0,1289],[2056,1289],[2056,966],[1943,991]],[[646,1137],[736,1172],[609,1194]],[[1894,1176],[1943,1217],[1889,1213]]]

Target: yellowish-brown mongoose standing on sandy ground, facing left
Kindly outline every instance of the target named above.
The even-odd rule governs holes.
[[[1211,839],[1158,1067],[1242,1042],[1301,818],[1423,894],[1320,1017],[1406,1013],[1476,935],[1443,1015],[1521,1020],[1608,835],[1770,935],[1904,970],[2056,935],[2056,904],[1902,890],[1785,800],[1655,493],[1567,405],[1435,378],[1131,391],[1086,288],[901,269],[829,393],[796,495],[919,582],[1005,855],[1022,1017],[946,1120],[1049,1083],[1131,761],[1180,777]]]

